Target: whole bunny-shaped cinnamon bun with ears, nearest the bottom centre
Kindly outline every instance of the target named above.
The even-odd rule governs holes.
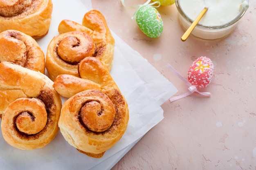
[[[59,75],[54,81],[60,95],[71,96],[63,104],[58,126],[70,145],[99,158],[126,131],[128,104],[100,60],[86,57],[79,63],[78,70],[80,77]]]

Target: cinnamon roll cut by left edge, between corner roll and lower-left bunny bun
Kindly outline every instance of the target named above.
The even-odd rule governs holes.
[[[36,40],[16,30],[0,33],[0,62],[8,61],[45,73],[45,54]]]

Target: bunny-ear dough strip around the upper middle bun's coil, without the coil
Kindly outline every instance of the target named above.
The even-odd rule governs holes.
[[[62,20],[58,26],[59,33],[82,31],[88,33],[96,45],[94,57],[98,58],[108,68],[112,68],[115,39],[112,37],[105,17],[97,10],[90,10],[83,16],[82,24],[71,20]]]

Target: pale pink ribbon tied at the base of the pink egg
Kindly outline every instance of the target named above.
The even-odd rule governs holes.
[[[211,93],[209,92],[200,92],[198,91],[198,89],[196,88],[195,85],[192,85],[189,81],[187,81],[184,77],[182,77],[182,75],[180,75],[180,73],[178,73],[175,68],[173,68],[173,66],[171,66],[170,64],[167,64],[166,65],[175,75],[177,75],[177,77],[179,77],[187,86],[189,86],[189,91],[182,94],[182,95],[178,95],[178,96],[175,96],[175,97],[172,97],[170,98],[169,100],[171,102],[175,101],[175,100],[178,100],[178,99],[181,99],[183,97],[186,97],[186,96],[189,96],[191,95],[192,93],[194,92],[197,92],[199,93],[200,95],[203,95],[203,96],[206,96],[206,97],[210,97],[211,96]]]

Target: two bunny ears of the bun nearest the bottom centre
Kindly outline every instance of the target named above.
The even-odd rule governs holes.
[[[53,87],[63,97],[70,98],[81,91],[94,89],[105,93],[108,89],[119,90],[108,68],[95,57],[86,57],[78,64],[79,77],[61,74],[54,80]]]

